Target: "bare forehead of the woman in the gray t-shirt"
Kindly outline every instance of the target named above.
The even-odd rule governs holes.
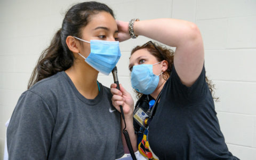
[[[85,30],[93,30],[96,27],[106,27],[110,31],[117,30],[117,24],[114,17],[105,11],[99,12],[97,14],[93,14],[90,16],[89,23],[84,27]]]

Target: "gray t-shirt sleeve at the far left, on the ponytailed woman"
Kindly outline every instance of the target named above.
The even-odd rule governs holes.
[[[54,118],[39,95],[26,91],[14,108],[7,127],[10,159],[47,159]]]

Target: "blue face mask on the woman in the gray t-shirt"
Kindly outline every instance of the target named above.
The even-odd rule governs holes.
[[[91,40],[88,42],[81,38],[75,38],[90,43],[91,53],[87,58],[78,53],[85,59],[85,62],[102,74],[109,75],[121,57],[119,42],[101,40]]]

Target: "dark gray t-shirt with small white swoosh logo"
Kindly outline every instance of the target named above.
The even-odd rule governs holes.
[[[86,99],[62,71],[22,93],[7,128],[9,158],[122,157],[121,116],[110,90],[99,86],[97,97]]]

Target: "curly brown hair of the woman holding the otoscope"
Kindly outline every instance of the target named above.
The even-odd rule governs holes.
[[[154,55],[156,57],[156,59],[159,62],[161,62],[163,60],[166,60],[168,62],[168,67],[167,67],[166,71],[164,71],[164,73],[163,73],[163,78],[165,79],[165,81],[167,81],[167,79],[169,78],[169,76],[171,75],[171,72],[172,72],[174,51],[171,49],[168,49],[165,45],[160,45],[156,42],[149,41],[143,45],[135,46],[132,49],[131,55],[135,51],[138,51],[141,49],[147,49],[152,55]],[[212,84],[212,81],[210,81],[206,76],[205,76],[205,81],[206,81],[206,83],[211,91],[212,97],[213,97],[215,85]],[[136,93],[138,99],[143,95],[142,93],[138,92],[137,90],[133,89],[133,91]],[[213,99],[215,101],[217,101],[219,98],[213,97]]]

